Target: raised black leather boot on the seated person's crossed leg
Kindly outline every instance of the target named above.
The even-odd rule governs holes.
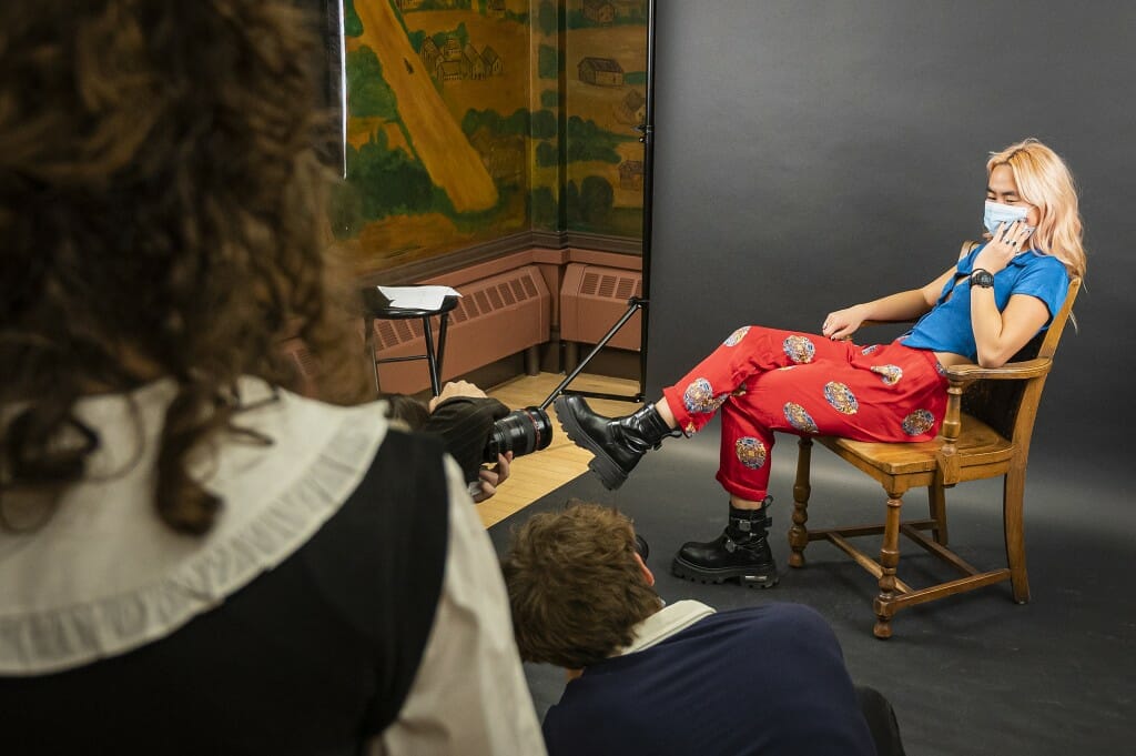
[[[596,415],[576,394],[562,394],[552,406],[568,438],[595,455],[587,466],[609,490],[624,484],[648,449],[658,449],[668,435],[682,435],[667,425],[654,405],[625,417]]]

